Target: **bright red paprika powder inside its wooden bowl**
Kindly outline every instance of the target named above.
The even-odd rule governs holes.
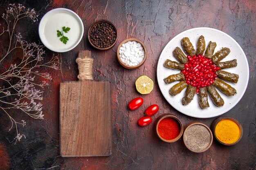
[[[179,122],[172,117],[162,119],[157,128],[159,135],[166,140],[175,139],[180,134],[180,129]]]

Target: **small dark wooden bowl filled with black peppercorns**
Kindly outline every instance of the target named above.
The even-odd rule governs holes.
[[[108,20],[98,20],[92,24],[88,31],[90,44],[98,50],[109,50],[117,42],[117,29]]]

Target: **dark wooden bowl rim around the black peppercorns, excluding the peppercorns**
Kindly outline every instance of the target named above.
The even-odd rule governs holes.
[[[91,32],[92,32],[92,29],[93,29],[93,27],[94,27],[95,25],[100,24],[100,23],[104,23],[104,22],[105,22],[105,23],[108,23],[108,24],[110,24],[110,25],[113,26],[113,28],[115,29],[115,32],[116,32],[116,40],[115,40],[115,42],[114,42],[111,46],[109,46],[109,47],[106,47],[106,48],[99,48],[99,47],[95,46],[95,45],[92,43],[92,40],[91,40]],[[117,28],[115,27],[115,25],[114,25],[112,22],[110,22],[110,21],[108,21],[108,20],[98,20],[98,21],[94,22],[94,23],[90,26],[90,29],[89,29],[89,31],[88,31],[88,40],[89,40],[90,44],[91,44],[95,49],[98,49],[98,50],[101,50],[101,51],[109,50],[109,49],[111,49],[113,46],[115,46],[115,44],[117,43],[117,37],[118,37]]]

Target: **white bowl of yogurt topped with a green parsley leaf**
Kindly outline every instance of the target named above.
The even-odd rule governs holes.
[[[74,11],[56,8],[43,16],[38,32],[48,49],[62,53],[79,44],[83,38],[83,22]]]

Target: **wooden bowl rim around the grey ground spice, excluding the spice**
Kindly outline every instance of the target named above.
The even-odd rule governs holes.
[[[193,126],[193,125],[202,125],[202,126],[204,126],[205,128],[207,128],[207,130],[208,130],[209,133],[210,133],[210,136],[211,136],[211,137],[210,137],[209,144],[208,144],[204,149],[202,149],[202,150],[194,150],[191,146],[189,146],[189,145],[186,144],[186,142],[185,142],[185,139],[188,137],[188,135],[186,134],[186,132],[187,132],[187,130],[189,130],[189,128],[190,128],[191,126]],[[211,147],[211,144],[212,144],[212,142],[213,142],[213,135],[212,135],[212,132],[211,132],[211,130],[210,130],[210,128],[209,128],[208,126],[206,126],[205,124],[200,123],[199,121],[194,121],[194,122],[192,122],[192,123],[186,125],[186,128],[185,128],[185,130],[184,130],[184,132],[183,132],[183,141],[184,141],[184,144],[185,144],[186,148],[188,148],[190,151],[195,152],[195,153],[200,153],[200,152],[204,152],[204,151],[208,150],[208,149]]]

